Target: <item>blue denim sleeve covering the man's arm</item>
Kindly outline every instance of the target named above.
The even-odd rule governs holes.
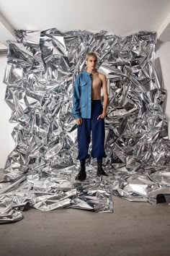
[[[80,90],[80,78],[79,74],[76,77],[76,80],[73,82],[73,110],[72,114],[75,119],[81,118],[81,112],[80,112],[80,96],[81,96],[81,90]]]

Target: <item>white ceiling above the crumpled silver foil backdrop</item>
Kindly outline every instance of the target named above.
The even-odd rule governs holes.
[[[116,35],[148,30],[166,32],[164,40],[170,40],[170,0],[0,0],[0,13],[1,43],[14,40],[14,29],[51,27]]]

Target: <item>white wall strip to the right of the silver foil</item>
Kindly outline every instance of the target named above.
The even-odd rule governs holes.
[[[168,120],[170,139],[170,42],[158,42],[156,44],[156,70],[167,90],[165,115]]]

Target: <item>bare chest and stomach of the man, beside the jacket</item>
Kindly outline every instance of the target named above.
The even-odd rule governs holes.
[[[91,99],[100,100],[101,99],[101,89],[102,89],[102,79],[101,73],[95,72],[91,74],[92,85],[91,85]]]

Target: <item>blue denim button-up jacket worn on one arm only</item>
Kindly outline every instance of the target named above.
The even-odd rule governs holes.
[[[91,74],[81,71],[73,83],[73,109],[75,119],[91,118]]]

